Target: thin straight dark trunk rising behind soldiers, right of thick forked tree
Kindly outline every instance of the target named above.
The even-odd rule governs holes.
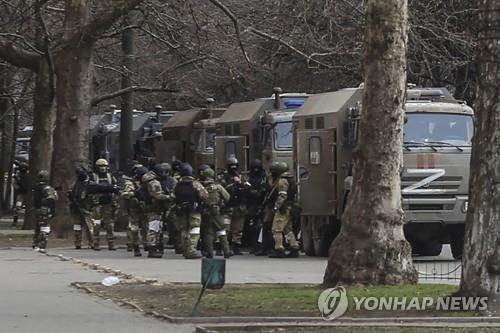
[[[136,23],[135,13],[128,13],[127,19],[124,20],[125,26],[134,25]],[[134,69],[134,39],[135,34],[133,29],[127,29],[122,36],[122,51],[123,51],[123,71],[122,89],[132,86],[131,75]],[[133,158],[133,143],[132,143],[132,128],[133,128],[133,104],[134,93],[129,92],[122,96],[122,107],[120,117],[120,170],[128,172],[130,161]]]

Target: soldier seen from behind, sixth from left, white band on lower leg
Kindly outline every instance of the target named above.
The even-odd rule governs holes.
[[[175,203],[178,225],[183,239],[183,252],[186,259],[201,258],[196,248],[200,239],[200,205],[206,202],[208,192],[193,177],[193,168],[183,163],[180,168],[180,180],[175,187]]]

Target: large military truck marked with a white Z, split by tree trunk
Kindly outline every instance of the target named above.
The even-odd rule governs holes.
[[[352,183],[362,88],[311,96],[294,115],[294,158],[302,207],[303,247],[327,255],[340,231]],[[463,249],[473,111],[445,88],[408,89],[402,204],[414,253]]]

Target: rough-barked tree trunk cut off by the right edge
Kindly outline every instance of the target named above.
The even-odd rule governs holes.
[[[500,7],[480,6],[479,78],[475,100],[469,211],[460,294],[489,297],[500,310]]]

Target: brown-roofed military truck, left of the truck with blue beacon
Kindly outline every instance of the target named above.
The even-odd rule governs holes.
[[[215,164],[215,128],[224,108],[200,108],[177,112],[164,126],[162,141],[155,144],[159,162],[189,162],[196,169]]]

